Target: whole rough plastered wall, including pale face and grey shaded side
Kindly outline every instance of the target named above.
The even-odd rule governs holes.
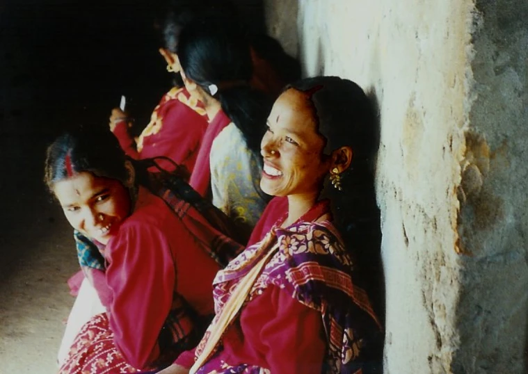
[[[525,372],[526,8],[266,0],[306,76],[378,101],[385,373]]]

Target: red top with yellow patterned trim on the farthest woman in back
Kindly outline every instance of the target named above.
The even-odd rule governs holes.
[[[207,128],[207,116],[198,101],[185,88],[173,88],[154,108],[150,122],[138,138],[131,138],[127,123],[118,122],[113,133],[125,153],[136,160],[166,156],[193,171],[202,137]],[[170,163],[159,162],[172,169]]]

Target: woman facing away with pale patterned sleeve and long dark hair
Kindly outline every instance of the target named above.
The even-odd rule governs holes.
[[[177,55],[187,90],[209,117],[189,184],[248,236],[269,200],[259,187],[259,141],[271,108],[250,86],[248,40],[236,25],[197,21],[182,30]]]

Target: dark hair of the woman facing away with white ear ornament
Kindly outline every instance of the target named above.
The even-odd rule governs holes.
[[[236,24],[212,20],[195,22],[182,30],[177,48],[179,63],[189,79],[221,103],[227,117],[243,133],[248,148],[260,157],[260,140],[272,101],[249,86],[253,62],[247,34]]]

